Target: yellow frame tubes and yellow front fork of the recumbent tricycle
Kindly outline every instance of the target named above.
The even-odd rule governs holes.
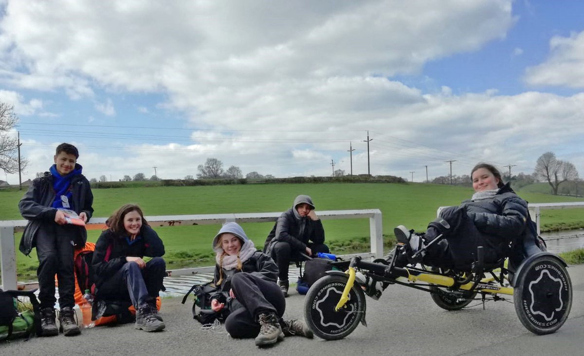
[[[424,273],[418,272],[412,273],[408,268],[404,268],[408,272],[408,278],[405,277],[398,277],[397,279],[404,279],[405,281],[409,282],[426,282],[429,284],[443,286],[443,287],[451,287],[454,285],[455,281],[454,278],[449,276],[443,276],[438,274],[432,273]],[[353,267],[349,267],[349,269],[345,272],[349,275],[349,281],[345,285],[345,289],[343,289],[343,294],[340,296],[339,302],[335,306],[335,312],[338,312],[340,308],[345,306],[347,300],[349,300],[349,292],[351,288],[353,288],[355,282],[355,269]],[[493,284],[489,284],[494,279],[492,277],[483,278],[481,282],[477,285],[477,292],[485,292],[490,294],[506,294],[506,295],[513,295],[513,288],[506,287],[506,286],[497,286]],[[484,284],[484,285],[481,285]],[[463,284],[458,287],[458,289],[463,289],[464,291],[470,291],[472,286],[474,286],[474,282],[468,282],[467,284]]]

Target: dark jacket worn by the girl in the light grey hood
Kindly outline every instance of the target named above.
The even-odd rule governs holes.
[[[239,303],[237,303],[237,305],[234,304],[236,300],[231,300],[231,298],[229,298],[231,276],[240,272],[251,273],[265,281],[274,282],[274,284],[278,279],[278,266],[276,265],[276,262],[272,260],[272,257],[261,251],[256,251],[247,261],[243,262],[241,271],[238,271],[237,269],[231,269],[230,271],[223,269],[223,281],[221,281],[221,285],[217,286],[218,290],[211,295],[211,299],[217,299],[220,303],[226,303],[225,305],[230,311],[233,311],[240,306]],[[219,265],[215,264],[215,277],[213,282],[217,284],[219,278]]]

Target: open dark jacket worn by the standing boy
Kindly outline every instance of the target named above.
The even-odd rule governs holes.
[[[75,169],[81,168],[78,164]],[[71,179],[72,192],[72,210],[80,214],[85,212],[87,221],[93,215],[93,194],[91,186],[84,175],[78,174]],[[18,207],[20,215],[29,220],[26,224],[25,231],[20,239],[19,250],[25,255],[29,255],[32,248],[36,246],[36,233],[42,224],[56,224],[55,214],[57,209],[51,207],[55,200],[55,191],[53,189],[53,175],[50,172],[44,172],[43,177],[35,178],[25,195],[20,199]],[[87,241],[87,231],[85,227],[79,226],[79,234],[74,241],[76,246],[84,246]]]

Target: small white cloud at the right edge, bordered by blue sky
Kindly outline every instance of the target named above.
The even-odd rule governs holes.
[[[584,88],[584,31],[550,40],[550,57],[527,68],[525,80],[531,85],[561,85]]]

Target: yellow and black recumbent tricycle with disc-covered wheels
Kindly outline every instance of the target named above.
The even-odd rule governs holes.
[[[475,262],[467,271],[413,264],[397,267],[397,256],[404,248],[398,245],[387,260],[368,262],[354,257],[331,261],[337,270],[318,279],[304,303],[304,317],[314,334],[338,340],[359,323],[367,326],[365,295],[378,299],[391,284],[429,292],[436,305],[446,310],[462,309],[473,300],[504,300],[500,295],[512,295],[519,320],[535,334],[554,333],[568,319],[572,282],[567,265],[545,250],[543,240],[530,234],[515,246],[511,244],[509,255],[495,264],[484,263],[482,246],[478,246]]]

